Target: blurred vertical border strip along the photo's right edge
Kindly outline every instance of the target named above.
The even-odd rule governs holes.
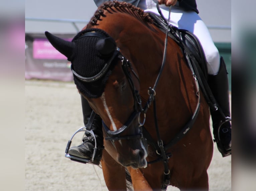
[[[232,189],[256,187],[256,2],[232,0]]]

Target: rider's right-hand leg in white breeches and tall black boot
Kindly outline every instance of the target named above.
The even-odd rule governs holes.
[[[209,86],[225,115],[222,116],[219,111],[211,111],[214,138],[222,156],[227,156],[231,153],[231,124],[227,121],[221,125],[225,117],[230,117],[228,77],[224,60],[220,59],[207,26],[196,12],[174,9],[171,20],[176,27],[192,32],[202,45],[207,61]]]

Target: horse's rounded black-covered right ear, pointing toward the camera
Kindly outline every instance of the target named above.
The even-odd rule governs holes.
[[[96,49],[102,54],[102,55],[109,55],[116,49],[116,42],[113,38],[108,37],[105,39],[100,39],[96,43]]]

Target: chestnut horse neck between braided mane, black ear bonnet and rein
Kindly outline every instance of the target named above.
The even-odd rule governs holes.
[[[163,42],[159,43],[161,36],[156,33],[158,29],[143,21],[137,12],[112,9],[115,11],[104,10],[105,17],[97,20],[97,25],[88,27],[100,28],[115,39],[120,52],[133,64],[136,73],[148,79],[146,82],[141,80],[142,84],[152,86],[161,66],[163,51]]]

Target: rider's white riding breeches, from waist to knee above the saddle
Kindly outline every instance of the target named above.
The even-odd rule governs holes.
[[[150,2],[150,4],[148,3]],[[151,0],[147,0],[146,12],[153,12],[159,15],[156,4]],[[168,20],[169,17],[169,7],[165,5],[160,5],[163,16]],[[205,56],[208,63],[208,73],[210,75],[217,74],[220,68],[220,55],[219,51],[214,45],[210,32],[199,17],[199,15],[194,11],[184,11],[179,7],[172,6],[170,14],[170,24],[179,28],[185,29],[192,32],[200,41]]]

